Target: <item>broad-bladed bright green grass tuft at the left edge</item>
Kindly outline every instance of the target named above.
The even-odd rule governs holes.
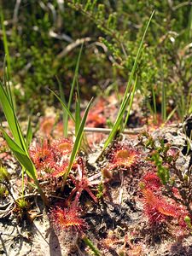
[[[40,184],[38,183],[37,170],[33,165],[28,153],[28,145],[32,139],[32,126],[30,119],[28,121],[26,137],[24,137],[24,134],[20,129],[20,123],[16,117],[15,105],[13,103],[13,97],[10,90],[9,82],[7,82],[6,80],[4,81],[5,84],[0,82],[0,102],[3,108],[5,118],[7,119],[9,124],[9,131],[12,134],[13,138],[10,137],[9,134],[3,129],[2,125],[0,127],[0,130],[3,132],[3,137],[8,143],[9,148],[22,166],[22,177],[24,176],[24,172],[26,172],[26,174],[32,178],[38,188],[38,191],[45,205],[48,205],[48,201],[46,196],[44,195],[44,191],[41,189]]]

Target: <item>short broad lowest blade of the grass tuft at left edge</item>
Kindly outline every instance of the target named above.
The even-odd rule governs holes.
[[[35,169],[35,166],[32,163],[32,160],[27,156],[26,152],[19,147],[15,141],[9,137],[6,131],[1,129],[3,131],[3,137],[5,138],[6,142],[9,145],[9,148],[11,151],[15,154],[16,159],[20,162],[21,166],[24,166],[26,168],[26,173],[29,177],[32,177],[32,179],[37,178],[37,171]]]

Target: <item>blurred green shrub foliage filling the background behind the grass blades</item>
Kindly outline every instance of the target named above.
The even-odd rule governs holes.
[[[177,106],[177,113],[183,118],[192,111],[192,7],[177,0],[24,0],[17,14],[15,3],[3,1],[13,81],[24,89],[20,100],[31,98],[31,107],[38,110],[42,100],[37,101],[37,93],[46,99],[48,87],[58,89],[55,75],[67,94],[83,41],[79,83],[84,95],[90,86],[92,92],[97,92],[114,80],[120,81],[119,85],[124,83],[153,10],[155,15],[137,67],[139,89],[149,104],[154,94],[157,111],[158,101],[164,98],[166,111]]]

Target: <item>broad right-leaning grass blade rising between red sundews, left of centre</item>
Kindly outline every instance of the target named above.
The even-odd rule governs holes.
[[[71,154],[71,157],[70,157],[70,160],[69,160],[69,166],[68,166],[68,169],[67,169],[66,178],[67,178],[69,172],[71,171],[71,168],[73,166],[73,162],[75,160],[76,154],[79,151],[81,141],[82,141],[82,138],[83,138],[83,134],[84,134],[84,125],[85,125],[85,122],[86,122],[86,119],[87,119],[87,115],[90,111],[90,105],[91,105],[92,102],[93,102],[93,98],[91,98],[89,104],[87,105],[87,108],[84,111],[84,116],[83,116],[83,118],[80,122],[79,130],[77,132],[77,137],[75,138],[75,142],[74,142],[74,146],[73,146],[73,151],[72,151],[72,154]]]

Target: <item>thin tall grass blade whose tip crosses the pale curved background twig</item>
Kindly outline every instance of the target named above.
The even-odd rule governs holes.
[[[74,91],[76,81],[78,79],[79,62],[80,62],[80,57],[81,57],[81,54],[82,54],[83,45],[84,44],[81,45],[81,49],[79,51],[79,56],[78,56],[78,61],[77,61],[76,67],[75,67],[75,73],[74,73],[74,76],[73,76],[72,87],[71,87],[71,90],[70,90],[69,100],[68,100],[68,104],[67,104],[68,109],[70,109],[71,105],[72,105],[73,91]],[[65,134],[64,134],[64,136],[67,137],[67,133],[68,133],[68,114],[65,117],[64,123],[65,123]]]

